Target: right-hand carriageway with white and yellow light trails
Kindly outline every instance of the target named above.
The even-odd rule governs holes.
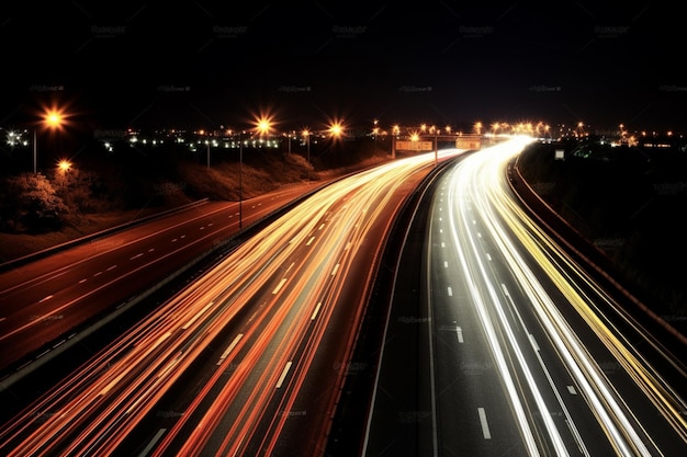
[[[464,157],[427,192],[361,455],[687,455],[684,357],[522,209],[506,168],[528,141]]]

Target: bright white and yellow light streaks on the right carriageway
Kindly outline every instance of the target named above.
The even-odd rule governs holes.
[[[552,282],[556,284],[564,296],[567,297],[570,302],[577,309],[590,329],[595,331],[600,341],[616,356],[630,377],[656,405],[657,410],[661,411],[676,433],[685,439],[685,431],[687,429],[685,426],[685,418],[680,415],[680,411],[686,410],[683,399],[676,397],[673,389],[661,379],[657,373],[651,369],[647,361],[643,359],[639,354],[635,354],[635,351],[631,347],[628,347],[628,344],[626,344],[627,341],[622,335],[619,335],[617,331],[613,332],[613,329],[609,324],[604,323],[599,315],[589,306],[589,304],[594,302],[593,299],[581,296],[581,294],[583,294],[582,288],[575,288],[574,279],[582,281],[587,286],[594,286],[594,284],[582,273],[581,277],[571,278],[565,272],[576,271],[577,269],[561,269],[559,263],[571,263],[567,258],[560,252],[560,249],[555,249],[554,243],[537,229],[536,225],[526,217],[510,197],[504,195],[500,191],[500,188],[506,185],[504,173],[505,164],[514,153],[519,151],[519,148],[513,145],[510,147],[513,148],[510,150],[502,149],[503,151],[498,151],[496,148],[492,148],[482,151],[480,155],[469,158],[470,160],[465,160],[459,164],[461,172],[478,176],[481,181],[468,179],[465,174],[463,174],[462,181],[458,181],[458,179],[452,181],[454,188],[450,193],[451,197],[470,196],[475,208],[478,208],[480,216],[485,226],[489,229],[489,232],[494,235],[494,241],[499,247],[504,259],[508,262],[514,275],[519,278],[520,286],[529,297],[532,309],[537,313],[540,322],[542,322],[542,328],[545,329],[550,341],[554,344],[560,357],[565,362],[568,372],[578,384],[584,393],[584,398],[589,402],[592,411],[597,415],[599,424],[606,431],[609,441],[618,454],[623,456],[651,456],[652,452],[649,449],[650,444],[655,449],[654,452],[660,453],[660,450],[657,450],[655,443],[610,385],[582,342],[578,341],[578,338],[564,320],[551,298],[543,288],[541,288],[534,274],[527,269],[527,264],[520,258],[518,250],[510,244],[509,239],[511,235],[509,235],[509,232],[515,233],[519,241],[525,244],[529,253],[538,260],[542,270],[549,274]],[[468,170],[468,167],[471,167],[471,169]],[[474,184],[475,187],[468,187],[466,182]],[[473,216],[464,213],[466,212],[464,206],[462,202],[458,202],[452,203],[449,207],[450,210],[463,212],[459,215],[453,214],[451,217],[452,221],[463,224],[462,228],[453,228],[455,245],[458,245],[459,249],[470,245],[473,252],[481,254],[480,245],[474,236],[469,238],[469,233],[472,233],[473,228],[469,225],[468,220],[471,220]],[[505,228],[504,222],[508,226],[508,230]],[[465,235],[459,236],[458,233]],[[528,422],[523,415],[523,407],[519,404],[519,400],[516,398],[516,389],[513,387],[513,382],[508,380],[510,375],[507,372],[507,366],[502,361],[503,355],[500,354],[500,350],[496,347],[496,336],[491,334],[493,323],[489,321],[491,318],[488,315],[481,309],[485,306],[486,301],[475,285],[476,279],[474,276],[482,274],[485,281],[488,281],[486,272],[481,262],[473,267],[472,264],[466,262],[464,254],[459,253],[459,255],[463,263],[464,271],[473,277],[472,279],[469,278],[468,283],[475,297],[483,327],[489,340],[493,341],[492,347],[493,351],[495,351],[495,357],[500,361],[498,366],[502,376],[506,378],[505,382],[508,386],[508,391],[510,392],[516,411],[518,411],[520,427],[525,436],[528,437],[526,439],[529,443],[528,449],[531,455],[538,455],[534,448],[534,439],[531,437],[532,432],[529,430]],[[554,255],[559,255],[559,258],[554,258]],[[476,255],[476,259],[480,259],[480,255]],[[503,316],[504,311],[499,304],[498,296],[488,283],[487,287],[492,304],[499,316],[499,320],[505,325],[507,334],[509,334],[511,330],[507,325],[505,316]],[[593,289],[598,292],[598,287],[596,286],[593,287]],[[602,299],[608,299],[605,294],[598,293]],[[509,340],[510,339],[511,336],[509,335]],[[514,347],[517,347],[515,340],[513,340],[513,344]],[[538,358],[540,357],[539,354],[537,354],[537,356]],[[522,364],[523,372],[529,373],[525,359],[520,357],[518,357],[518,359]],[[537,386],[533,384],[530,382],[529,386],[533,391],[537,390]],[[558,393],[556,397],[560,399]],[[548,416],[548,414],[544,413],[545,405],[539,402],[538,404],[540,408],[544,408],[542,415]],[[564,407],[563,404],[561,405]],[[564,409],[564,411],[566,410]],[[570,416],[568,421],[570,424],[574,426]],[[547,430],[550,435],[552,435],[552,441],[558,443],[559,432],[555,431],[553,424],[550,425],[551,426],[548,426]],[[577,435],[574,430],[573,435]],[[576,439],[579,442],[578,437],[576,437]],[[565,455],[565,450],[562,448],[558,448],[558,452],[561,455]]]

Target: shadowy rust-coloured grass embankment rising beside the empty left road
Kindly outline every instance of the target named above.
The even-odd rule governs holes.
[[[134,159],[138,163],[135,168],[126,164],[133,161],[131,158],[100,158],[66,176],[55,172],[37,185],[41,197],[30,190],[25,192],[31,194],[26,202],[16,198],[18,208],[8,212],[11,196],[22,193],[14,188],[16,183],[25,186],[30,180],[11,176],[13,184],[4,186],[8,198],[3,214],[15,217],[12,225],[7,224],[8,217],[0,220],[5,222],[0,230],[0,263],[200,199],[237,202],[239,195],[247,199],[283,185],[324,181],[385,160],[363,155],[356,163],[324,164],[316,170],[302,156],[280,151],[250,151],[240,167],[236,159],[217,160],[211,167],[173,155]],[[31,199],[36,198],[57,202],[57,227],[32,230],[19,222],[23,210],[20,206],[31,206]]]

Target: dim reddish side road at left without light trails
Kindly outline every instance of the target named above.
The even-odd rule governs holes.
[[[312,191],[285,187],[241,203],[210,202],[0,272],[2,387],[60,350],[83,324],[123,306],[212,250],[238,242],[241,227]],[[240,219],[240,220],[239,220]]]

